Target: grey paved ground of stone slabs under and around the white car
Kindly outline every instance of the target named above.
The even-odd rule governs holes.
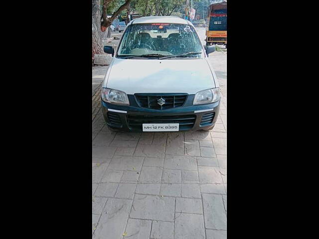
[[[210,132],[109,131],[99,111],[107,67],[93,68],[94,239],[226,239],[227,72],[217,64],[224,58],[210,57],[223,94]]]

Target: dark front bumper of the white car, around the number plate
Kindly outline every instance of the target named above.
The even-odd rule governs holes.
[[[214,126],[220,100],[206,105],[153,110],[134,106],[120,106],[101,100],[107,125],[122,131],[141,132],[143,123],[179,123],[179,131],[210,129]]]

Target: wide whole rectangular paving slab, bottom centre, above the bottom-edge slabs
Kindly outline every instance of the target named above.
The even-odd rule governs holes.
[[[173,222],[175,199],[136,194],[130,218]]]

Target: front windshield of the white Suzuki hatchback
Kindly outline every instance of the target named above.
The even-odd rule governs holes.
[[[176,55],[184,58],[201,58],[204,56],[200,40],[191,25],[172,23],[129,25],[120,43],[117,56],[155,54],[159,55],[158,57]],[[169,59],[176,59],[176,57]]]

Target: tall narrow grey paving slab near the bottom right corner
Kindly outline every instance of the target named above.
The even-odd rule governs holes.
[[[202,194],[206,229],[226,230],[227,219],[222,195]]]

